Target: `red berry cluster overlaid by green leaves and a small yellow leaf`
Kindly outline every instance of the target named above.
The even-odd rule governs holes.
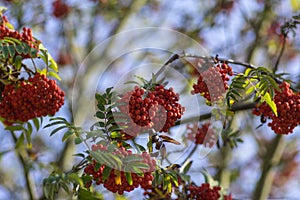
[[[101,152],[107,151],[107,146],[103,146],[102,144],[97,144],[92,146],[93,151],[100,150]],[[126,150],[124,147],[118,148],[112,152],[112,154],[117,155],[120,159],[124,159],[127,156],[133,156],[130,150]],[[134,190],[135,188],[141,186],[143,189],[148,189],[152,186],[153,175],[151,174],[152,171],[156,168],[156,161],[151,158],[151,156],[147,152],[143,152],[141,155],[134,155],[136,157],[142,158],[143,163],[149,166],[148,169],[140,169],[143,172],[143,176],[138,175],[135,172],[131,172],[132,177],[132,184],[129,184],[126,177],[124,170],[117,170],[112,169],[107,180],[103,180],[103,170],[105,169],[106,165],[102,164],[99,169],[96,170],[97,162],[95,160],[92,161],[89,165],[87,165],[84,169],[84,172],[93,177],[93,181],[97,184],[103,184],[103,186],[111,192],[118,192],[119,194],[123,194],[125,191],[129,192]],[[120,179],[120,182],[117,181]],[[90,187],[92,181],[86,184],[87,187]]]

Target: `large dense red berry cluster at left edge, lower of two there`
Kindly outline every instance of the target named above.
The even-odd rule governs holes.
[[[28,81],[5,86],[0,116],[5,119],[4,124],[12,125],[16,121],[27,122],[36,117],[54,115],[63,104],[64,92],[56,81],[37,73]]]

